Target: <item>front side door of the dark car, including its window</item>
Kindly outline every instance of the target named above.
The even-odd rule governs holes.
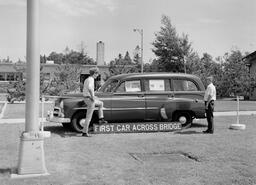
[[[145,95],[140,79],[122,81],[111,98],[113,121],[139,121],[145,118]]]

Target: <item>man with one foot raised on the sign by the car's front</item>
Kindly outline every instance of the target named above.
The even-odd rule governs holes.
[[[107,123],[107,121],[104,120],[103,115],[103,102],[100,101],[96,96],[94,96],[94,79],[98,77],[99,70],[98,68],[91,68],[89,70],[89,73],[90,76],[84,81],[83,87],[84,102],[87,105],[86,118],[84,122],[84,128],[82,130],[82,136],[84,137],[90,137],[90,135],[88,134],[88,128],[92,119],[92,114],[95,106],[99,108],[99,124]]]

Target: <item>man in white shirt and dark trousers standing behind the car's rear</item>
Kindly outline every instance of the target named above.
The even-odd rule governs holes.
[[[213,134],[214,125],[213,125],[213,111],[214,111],[214,101],[216,100],[216,88],[213,85],[213,77],[207,77],[207,89],[204,94],[204,102],[205,102],[205,112],[206,118],[208,122],[208,129],[203,131],[204,133]]]

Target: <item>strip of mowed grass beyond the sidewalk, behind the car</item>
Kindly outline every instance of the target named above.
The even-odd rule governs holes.
[[[44,104],[44,117],[47,115],[47,111],[52,110],[53,103]],[[39,104],[39,116],[42,115],[42,105]],[[1,110],[1,104],[0,104]],[[216,112],[226,112],[226,111],[236,111],[237,102],[234,100],[217,100],[215,103]],[[256,101],[240,101],[239,102],[240,111],[256,111]],[[4,112],[4,119],[15,119],[15,118],[25,118],[25,104],[24,103],[14,103],[8,104]]]

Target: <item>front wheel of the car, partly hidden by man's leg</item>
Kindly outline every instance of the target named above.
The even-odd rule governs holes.
[[[72,129],[76,132],[82,132],[83,127],[84,127],[85,118],[86,118],[86,111],[77,112],[71,120]],[[89,131],[93,130],[93,124],[92,123],[94,122],[93,121],[94,119],[95,119],[95,117],[93,115],[92,120],[91,120],[90,125],[89,125]]]

